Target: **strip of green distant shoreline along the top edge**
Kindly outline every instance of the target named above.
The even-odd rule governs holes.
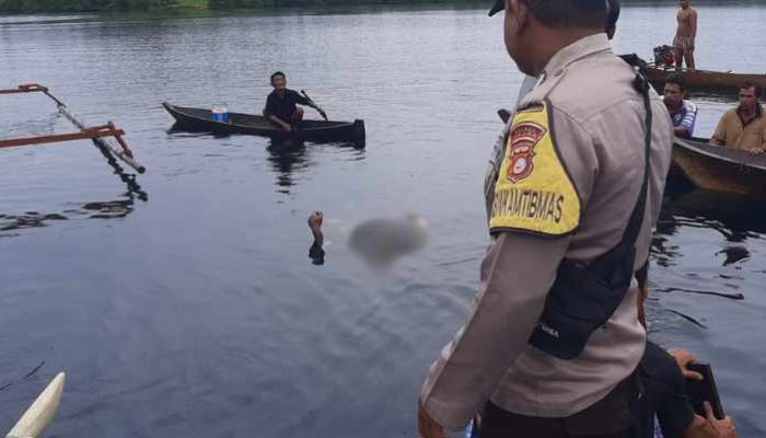
[[[119,7],[119,0],[0,0],[0,14],[46,14],[46,13],[121,13],[121,12],[178,12],[205,11],[279,11],[307,8],[341,10],[360,5],[450,5],[485,4],[484,0],[134,0],[131,7]]]

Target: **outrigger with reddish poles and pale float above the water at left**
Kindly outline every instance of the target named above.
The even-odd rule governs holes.
[[[11,90],[0,90],[0,94],[35,93],[35,92],[40,92],[40,93],[47,95],[48,97],[50,97],[54,102],[56,102],[56,106],[58,107],[59,113],[61,115],[63,115],[74,126],[77,126],[80,129],[80,131],[74,132],[74,134],[59,134],[59,135],[53,135],[53,136],[0,140],[0,149],[11,148],[11,147],[16,147],[16,146],[43,145],[43,143],[51,143],[51,142],[58,142],[58,141],[91,139],[91,140],[93,140],[93,143],[98,149],[102,150],[102,152],[117,157],[123,162],[125,162],[125,164],[135,169],[138,173],[144,173],[147,171],[147,168],[139,164],[134,159],[132,151],[130,150],[130,148],[128,148],[128,145],[125,142],[125,139],[123,138],[123,136],[125,135],[125,131],[123,129],[117,129],[112,122],[107,123],[106,125],[102,125],[102,126],[95,126],[95,127],[85,126],[84,123],[82,123],[77,117],[74,117],[74,115],[69,111],[69,108],[67,107],[67,105],[63,104],[63,102],[59,101],[58,99],[56,99],[56,96],[50,94],[46,87],[38,85],[36,83],[22,84],[22,85],[19,85],[19,88],[11,89]],[[108,140],[108,137],[114,137],[115,140],[117,140],[117,143],[119,143],[120,149],[115,147]]]

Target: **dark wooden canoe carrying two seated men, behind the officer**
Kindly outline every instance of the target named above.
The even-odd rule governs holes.
[[[699,188],[766,198],[766,155],[676,137],[673,164]]]

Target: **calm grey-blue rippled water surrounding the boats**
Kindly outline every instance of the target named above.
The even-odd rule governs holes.
[[[766,7],[699,13],[698,66],[766,71]],[[615,46],[648,56],[673,32],[672,7],[628,7]],[[149,169],[120,177],[86,141],[0,151],[0,430],[65,370],[51,437],[414,436],[487,244],[495,111],[521,81],[501,35],[471,9],[0,18],[0,88],[39,82],[114,120]],[[367,149],[167,132],[161,102],[259,112],[277,69],[332,118],[364,118]],[[703,102],[696,134],[726,108]],[[0,100],[0,138],[71,130],[45,96]],[[740,436],[763,436],[766,211],[671,192],[651,336],[711,361]],[[430,223],[425,251],[376,272],[347,249],[355,223],[407,211]]]

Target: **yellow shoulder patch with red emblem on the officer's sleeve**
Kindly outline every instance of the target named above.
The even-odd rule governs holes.
[[[580,197],[554,143],[546,105],[513,117],[489,218],[490,232],[564,235],[580,224]]]

